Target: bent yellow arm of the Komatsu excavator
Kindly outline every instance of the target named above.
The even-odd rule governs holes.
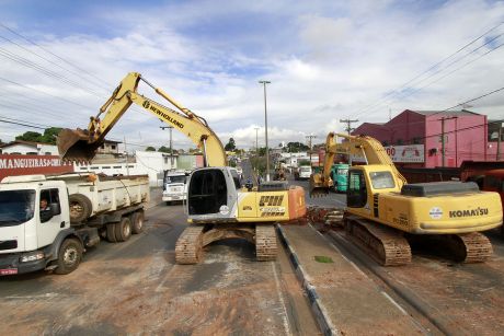
[[[346,141],[337,142],[337,138]],[[383,146],[375,138],[367,136],[348,136],[343,134],[330,132],[325,139],[325,159],[322,173],[310,176],[310,197],[328,194],[333,181],[331,179],[331,166],[336,153],[363,157],[366,164],[382,164],[390,166],[397,179],[406,184],[406,179],[397,170]]]

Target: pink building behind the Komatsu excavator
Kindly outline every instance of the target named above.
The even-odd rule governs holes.
[[[398,163],[408,167],[459,166],[462,161],[494,161],[495,142],[489,142],[486,116],[470,111],[405,109],[386,124],[364,123],[353,135],[371,136],[385,147],[423,149],[422,162]],[[444,144],[443,144],[444,135]],[[444,146],[444,155],[443,155]],[[408,150],[411,150],[408,149]],[[504,146],[501,152],[504,151]],[[502,155],[504,157],[504,155]],[[444,161],[444,163],[443,163]]]

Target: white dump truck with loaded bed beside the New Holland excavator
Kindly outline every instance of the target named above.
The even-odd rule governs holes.
[[[124,242],[144,229],[147,175],[8,176],[0,183],[0,275],[69,274],[101,236]]]

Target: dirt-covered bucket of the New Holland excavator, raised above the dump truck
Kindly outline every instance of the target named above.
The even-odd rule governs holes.
[[[87,130],[62,129],[56,141],[60,158],[66,161],[91,161],[102,143],[89,143],[89,138]]]

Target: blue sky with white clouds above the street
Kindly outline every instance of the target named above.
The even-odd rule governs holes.
[[[310,134],[322,142],[343,129],[340,118],[380,123],[389,109],[444,109],[502,86],[503,21],[502,1],[478,0],[0,0],[0,23],[43,47],[0,26],[0,78],[22,84],[0,80],[0,116],[84,127],[122,78],[137,71],[205,117],[222,142],[233,137],[248,148],[254,128],[264,127],[257,81],[267,79],[272,143]],[[471,105],[504,117],[504,94]],[[168,136],[159,126],[133,108],[111,137],[160,146]],[[0,123],[0,139],[25,130]],[[175,136],[175,144],[190,142]]]

